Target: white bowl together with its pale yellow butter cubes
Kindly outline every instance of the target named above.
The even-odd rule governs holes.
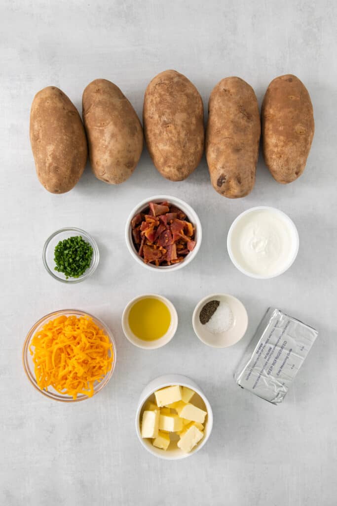
[[[204,446],[212,432],[213,413],[192,379],[167,374],[142,391],[135,421],[143,447],[157,457],[176,460]]]

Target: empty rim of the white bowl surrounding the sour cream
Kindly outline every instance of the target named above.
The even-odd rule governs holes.
[[[250,271],[247,271],[245,268],[243,268],[235,259],[235,255],[233,254],[233,250],[232,250],[232,246],[231,246],[232,234],[233,234],[233,231],[235,230],[237,223],[245,215],[252,213],[254,211],[257,211],[257,210],[262,210],[262,209],[269,209],[271,212],[276,213],[282,219],[282,221],[288,227],[288,230],[291,234],[291,240],[292,240],[292,250],[290,252],[288,262],[286,264],[282,265],[280,267],[279,271],[277,271],[271,275],[266,275],[266,276],[252,273]],[[260,205],[257,207],[251,207],[250,209],[247,209],[246,211],[244,211],[243,213],[238,215],[237,218],[235,218],[235,220],[231,224],[230,229],[228,231],[227,250],[228,250],[228,255],[229,255],[230,260],[232,261],[232,263],[234,264],[236,269],[238,269],[240,272],[242,272],[243,274],[246,274],[246,276],[249,276],[249,277],[255,278],[255,279],[270,279],[270,278],[274,278],[276,276],[279,276],[280,274],[283,274],[283,272],[285,272],[287,269],[289,269],[291,267],[291,265],[294,263],[294,261],[297,257],[297,254],[298,254],[298,250],[299,250],[299,234],[298,234],[298,231],[297,231],[297,228],[296,228],[294,222],[281,210],[277,209],[276,207],[270,207],[267,205]]]

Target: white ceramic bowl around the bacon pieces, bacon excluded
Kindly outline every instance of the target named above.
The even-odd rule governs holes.
[[[175,205],[179,209],[185,213],[189,221],[196,227],[195,232],[195,241],[196,246],[193,251],[190,251],[189,254],[186,256],[186,258],[179,262],[178,264],[174,265],[168,265],[168,266],[155,266],[152,264],[146,264],[142,261],[142,259],[139,257],[136,248],[134,247],[133,240],[132,240],[132,230],[131,230],[131,220],[132,218],[143,211],[146,207],[148,207],[149,202],[164,202],[167,200],[171,204]],[[160,272],[171,272],[176,271],[177,269],[181,269],[182,267],[185,267],[187,264],[189,264],[197,255],[199,248],[201,246],[201,240],[202,240],[202,228],[201,223],[198,218],[197,213],[190,205],[188,205],[183,200],[180,200],[179,198],[172,197],[171,195],[155,195],[153,197],[146,198],[145,200],[142,200],[137,204],[131,211],[127,221],[126,221],[126,227],[125,227],[125,241],[128,250],[130,251],[132,257],[138,264],[142,265],[143,267],[146,267],[147,269],[150,269],[151,271],[160,271]]]

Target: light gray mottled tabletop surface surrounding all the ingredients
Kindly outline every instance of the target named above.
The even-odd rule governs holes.
[[[331,0],[2,0],[2,506],[337,503],[336,16]],[[29,145],[34,94],[55,85],[81,109],[84,87],[105,77],[122,89],[141,116],[148,82],[168,68],[195,83],[205,111],[222,77],[243,77],[261,103],[273,77],[298,75],[310,92],[316,122],[303,176],[279,185],[260,156],[252,193],[229,200],[213,190],[205,160],[188,180],[172,183],[157,173],[145,150],[134,175],[121,186],[98,181],[87,166],[71,192],[47,193],[37,181]],[[204,227],[197,258],[169,275],[141,268],[124,242],[130,209],[156,193],[186,200]],[[238,272],[225,245],[232,220],[260,204],[290,215],[300,235],[293,267],[268,281]],[[96,273],[73,286],[52,279],[41,261],[44,240],[65,226],[87,230],[101,251]],[[121,328],[126,303],[149,291],[171,299],[179,315],[174,339],[157,351],[133,347]],[[230,349],[204,346],[191,326],[197,302],[217,291],[238,297],[249,314],[245,338]],[[232,377],[269,305],[319,330],[294,386],[277,407],[240,390]],[[102,393],[66,405],[32,388],[21,348],[38,318],[73,307],[107,322],[118,360]],[[142,388],[170,372],[190,376],[205,391],[214,429],[198,454],[167,462],[143,450],[134,413]]]

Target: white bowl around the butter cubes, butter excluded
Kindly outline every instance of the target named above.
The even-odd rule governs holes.
[[[182,387],[188,387],[196,392],[198,394],[206,406],[207,416],[205,420],[205,429],[204,429],[204,437],[200,441],[200,443],[192,449],[189,453],[184,453],[180,450],[180,448],[168,448],[166,451],[161,450],[160,448],[156,448],[151,443],[151,440],[149,439],[143,439],[141,437],[140,432],[140,415],[142,412],[142,407],[145,404],[145,402],[151,397],[156,390],[159,390],[164,387],[170,387],[172,385],[181,385]],[[150,453],[153,455],[156,455],[160,458],[165,458],[167,460],[178,460],[180,458],[189,457],[191,455],[194,455],[197,451],[199,451],[206,443],[208,438],[211,435],[212,427],[213,427],[213,412],[210,403],[208,402],[207,397],[205,396],[204,392],[198,387],[198,385],[187,376],[183,376],[181,374],[166,374],[164,376],[160,376],[156,379],[153,379],[152,382],[149,383],[147,387],[141,392],[137,412],[136,412],[136,433],[138,436],[138,439],[142,446],[146,448]]]

